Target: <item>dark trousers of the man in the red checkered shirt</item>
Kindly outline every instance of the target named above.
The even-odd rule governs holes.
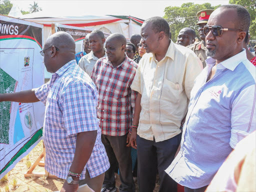
[[[105,146],[110,168],[105,172],[103,187],[115,186],[114,172],[116,160],[119,166],[121,185],[119,191],[133,192],[135,184],[132,178],[130,147],[126,146],[127,134],[123,136],[109,136],[101,134],[102,143]]]

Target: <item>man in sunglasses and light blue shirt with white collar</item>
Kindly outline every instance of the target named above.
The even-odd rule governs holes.
[[[206,67],[196,77],[180,150],[166,172],[186,191],[204,191],[235,145],[256,127],[256,67],[243,41],[250,15],[222,5],[203,27]]]

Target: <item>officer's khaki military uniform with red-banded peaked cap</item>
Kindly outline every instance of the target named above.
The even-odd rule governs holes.
[[[197,12],[196,16],[198,18],[198,22],[196,24],[201,24],[201,23],[207,23],[210,14],[213,12],[213,9],[205,9],[205,10],[200,10]],[[205,51],[207,50],[205,45],[203,44],[203,41],[200,42],[195,42],[194,44],[190,44],[187,46],[187,48],[191,49],[194,51],[194,53],[197,55],[197,57],[201,60],[202,62],[202,67],[204,68],[206,66],[205,60],[207,58]]]

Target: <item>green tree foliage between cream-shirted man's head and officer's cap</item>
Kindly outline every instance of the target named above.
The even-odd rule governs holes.
[[[165,7],[163,18],[165,18],[170,25],[172,40],[176,42],[179,30],[184,27],[190,27],[194,29],[198,36],[198,26],[196,25],[198,18],[196,16],[196,13],[202,9],[215,9],[219,6],[220,5],[212,6],[208,2],[203,4],[194,4],[192,2],[187,2],[183,3],[180,7]]]

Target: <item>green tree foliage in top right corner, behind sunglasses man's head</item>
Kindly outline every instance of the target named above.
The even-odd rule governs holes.
[[[230,4],[240,4],[250,13],[250,36],[256,39],[256,0],[229,0]]]

